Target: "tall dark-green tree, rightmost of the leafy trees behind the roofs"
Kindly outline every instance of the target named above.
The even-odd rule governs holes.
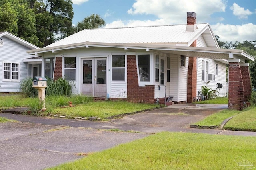
[[[71,0],[38,0],[34,5],[32,0],[30,2],[36,14],[36,27],[42,47],[74,33]]]

